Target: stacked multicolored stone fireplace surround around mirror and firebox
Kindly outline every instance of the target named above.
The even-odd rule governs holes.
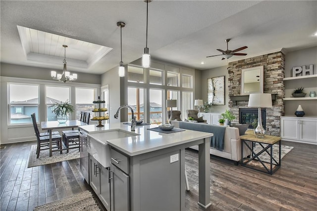
[[[249,108],[248,100],[234,100],[230,97],[240,96],[241,70],[245,68],[264,66],[264,93],[275,94],[272,100],[272,108],[266,108],[266,134],[280,135],[280,117],[284,116],[285,93],[284,78],[285,55],[281,51],[269,53],[244,60],[230,62],[228,64],[229,110],[236,119],[232,123],[239,124],[239,109]]]

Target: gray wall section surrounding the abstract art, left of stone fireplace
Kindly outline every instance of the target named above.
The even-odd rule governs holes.
[[[228,71],[227,71],[227,66],[222,66],[222,67],[217,67],[217,68],[212,68],[208,70],[203,70],[202,71],[202,77],[201,77],[201,93],[202,93],[202,98],[203,101],[207,101],[207,80],[213,77],[219,77],[219,76],[224,76],[224,104],[225,105],[212,105],[211,109],[209,112],[212,113],[223,113],[226,109],[229,109],[228,106],[228,100],[229,100],[229,89],[228,89]]]

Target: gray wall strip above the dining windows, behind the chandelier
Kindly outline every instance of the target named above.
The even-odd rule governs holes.
[[[47,68],[40,68],[40,67],[30,67],[30,66],[23,66],[23,65],[14,65],[14,64],[7,64],[1,63],[0,64],[0,76],[6,77],[14,77],[14,78],[24,78],[24,79],[40,79],[40,80],[49,80],[54,81],[51,78],[51,70]],[[62,66],[60,69],[60,73],[63,71]],[[56,70],[58,72],[58,70]],[[77,73],[78,79],[74,83],[85,83],[85,84],[101,84],[100,75],[96,74],[87,74],[87,73]]]

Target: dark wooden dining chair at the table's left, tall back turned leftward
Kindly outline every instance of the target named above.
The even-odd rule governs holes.
[[[37,139],[36,158],[39,158],[41,150],[50,150],[50,148],[48,147],[50,144],[50,135],[40,136],[40,132],[36,124],[34,113],[31,114],[31,118],[33,122],[36,139]],[[52,145],[53,144],[56,144],[56,146],[52,147],[52,149],[57,148],[57,150],[52,150],[52,152],[59,151],[60,154],[62,154],[62,143],[61,143],[61,136],[59,135],[59,133],[58,134],[52,133]],[[41,147],[44,147],[44,148],[41,148]]]

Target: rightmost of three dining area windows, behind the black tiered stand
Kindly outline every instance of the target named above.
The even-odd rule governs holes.
[[[80,112],[89,111],[92,117],[92,110],[95,108],[95,88],[76,88],[76,120],[80,120]]]

